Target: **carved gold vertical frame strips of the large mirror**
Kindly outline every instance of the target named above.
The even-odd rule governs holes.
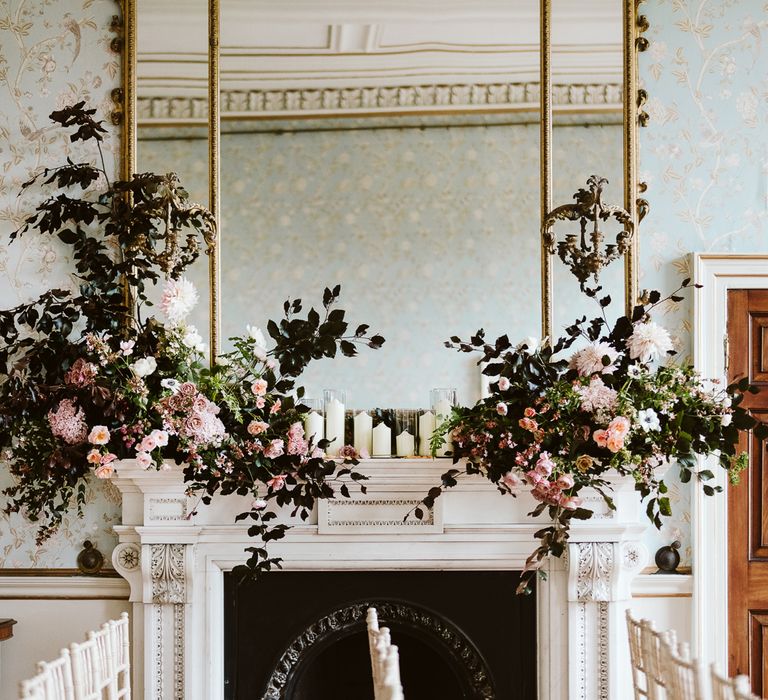
[[[511,1],[511,0],[510,0]],[[647,20],[638,13],[642,0],[616,0],[622,3],[623,45],[623,206],[629,215],[629,228],[635,232],[624,254],[624,301],[627,312],[638,298],[638,236],[639,218],[647,209],[640,198],[645,190],[637,180],[637,131],[645,123],[641,107],[645,91],[638,88],[637,52],[647,46],[641,36],[648,28]],[[121,175],[129,178],[136,166],[136,0],[121,0],[123,9],[123,75],[122,75],[122,167]],[[219,39],[220,0],[208,0],[208,154],[209,154],[209,207],[217,230],[221,219],[220,195],[220,94],[219,94]],[[554,208],[552,201],[552,0],[540,0],[540,162],[541,162],[541,221],[544,222]],[[575,185],[581,183],[574,183]],[[545,245],[545,232],[541,232],[541,314],[542,337],[552,337],[553,317],[553,256]],[[211,356],[215,358],[221,347],[221,236],[216,236],[209,256],[210,277],[210,340]]]

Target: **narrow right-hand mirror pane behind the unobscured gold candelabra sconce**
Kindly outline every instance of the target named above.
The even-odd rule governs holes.
[[[574,38],[588,41],[588,51],[575,54]],[[607,204],[624,206],[623,107],[622,107],[622,3],[617,0],[552,0],[552,196],[555,206],[573,203],[573,195],[586,187],[587,178],[608,180],[603,191]],[[619,232],[616,224],[601,224],[607,242]],[[558,240],[577,233],[578,225],[560,223]],[[600,315],[599,307],[579,290],[578,280],[555,256],[554,334],[577,318]],[[600,296],[610,296],[605,310],[609,320],[624,313],[624,259],[600,273]],[[589,286],[594,286],[590,280]]]

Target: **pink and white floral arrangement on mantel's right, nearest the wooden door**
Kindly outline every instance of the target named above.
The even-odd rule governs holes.
[[[744,392],[754,388],[747,380],[723,387],[691,366],[664,364],[675,354],[672,339],[651,319],[655,307],[679,300],[689,286],[684,280],[666,299],[655,291],[644,294],[631,318],[613,326],[604,313],[610,297],[604,297],[601,316],[583,317],[553,345],[529,338],[513,346],[507,336],[487,343],[482,330],[468,342],[451,338],[447,347],[479,353],[483,373],[495,381],[490,396],[471,408],[455,408],[433,436],[435,450],[452,442],[455,467],[412,513],[424,517],[424,507],[431,508],[464,474],[483,475],[502,494],[530,493],[537,502],[530,515],[547,511],[552,524],[536,533],[539,543],[518,589],[523,593],[537,572],[544,575],[546,557],[562,555],[572,520],[592,517],[582,506],[584,489],[614,509],[605,479],[609,470],[634,478],[656,527],[671,514],[659,476],[667,463],[679,466],[683,482],[696,476],[713,495],[722,489],[706,483],[714,474],[697,470],[697,457],[716,455],[736,483],[747,466],[740,431],[768,435],[768,427],[739,406]],[[581,347],[574,350],[577,342]]]

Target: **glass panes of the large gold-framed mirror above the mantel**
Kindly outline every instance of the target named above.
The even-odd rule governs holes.
[[[158,6],[178,11],[177,0],[144,2],[156,18]],[[556,204],[593,171],[611,180],[611,201],[622,192],[621,8],[588,6],[554,8]],[[319,305],[325,286],[341,284],[350,320],[387,343],[316,363],[302,377],[308,395],[336,388],[351,408],[418,408],[434,387],[455,387],[462,404],[480,396],[479,369],[443,347],[450,336],[481,326],[491,339],[539,335],[538,7],[222,0],[225,349],[246,324],[279,316],[286,298]],[[195,13],[183,14],[186,26]],[[140,82],[139,166],[175,170],[205,203],[205,126],[194,126],[205,86],[189,57],[205,45],[191,30],[153,26],[199,45],[184,51],[173,38],[171,60],[155,73],[164,78]],[[557,329],[577,300],[555,268]],[[620,262],[614,270],[621,281]],[[207,269],[190,276],[205,283]]]

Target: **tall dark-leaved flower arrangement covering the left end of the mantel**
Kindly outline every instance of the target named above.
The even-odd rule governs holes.
[[[94,113],[81,102],[51,119],[101,155]],[[79,289],[0,311],[0,449],[15,477],[5,511],[39,523],[41,542],[69,509],[82,514],[87,479],[111,477],[121,459],[158,470],[173,460],[203,503],[250,496],[237,519],[250,520],[262,543],[281,538],[287,526],[271,522],[269,501],[306,519],[316,499],[349,496],[365,478],[354,450],[326,459],[327,441],[304,435],[297,378],[313,360],[352,357],[384,338],[365,324],[350,329],[336,286],[320,311],[304,315],[301,300],[286,301],[266,326],[269,350],[263,331],[248,327],[209,368],[186,320],[198,294],[182,273],[216,235],[210,213],[173,174],[110,183],[100,163],[68,161],[24,185],[57,189],[11,239],[35,230],[70,246]],[[149,287],[163,281],[160,320],[146,311]],[[263,544],[247,551],[250,571],[279,566]]]

